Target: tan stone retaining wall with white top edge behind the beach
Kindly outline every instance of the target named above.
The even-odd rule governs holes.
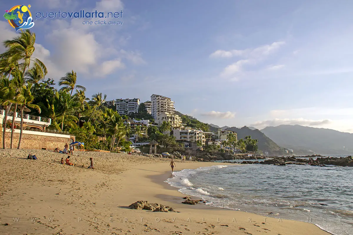
[[[2,128],[1,128],[2,129]],[[18,140],[19,140],[19,131],[18,129],[14,130],[13,133],[13,148],[17,148]],[[0,148],[2,148],[2,130],[0,133],[1,143]],[[48,132],[40,132],[40,131],[29,131],[23,130],[22,134],[22,149],[52,149],[55,148],[64,149],[65,143],[70,144],[75,141],[75,136],[63,135],[63,134],[54,134]],[[6,130],[5,135],[6,148],[10,148],[11,143],[11,130]]]

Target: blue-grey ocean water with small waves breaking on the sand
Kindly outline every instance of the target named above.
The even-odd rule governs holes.
[[[166,180],[208,205],[305,221],[353,234],[353,167],[235,165],[184,169]]]

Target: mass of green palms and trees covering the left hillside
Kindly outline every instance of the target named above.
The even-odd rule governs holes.
[[[91,99],[85,95],[85,87],[77,85],[78,74],[73,70],[63,76],[56,90],[54,80],[45,79],[47,68],[32,57],[35,33],[25,30],[18,37],[4,42],[6,51],[0,55],[0,105],[5,109],[3,127],[18,128],[14,122],[7,122],[10,111],[23,114],[28,107],[30,114],[51,118],[47,131],[65,132],[76,136],[76,141],[85,143],[86,149],[130,151],[130,136],[137,141],[156,140],[160,145],[178,149],[174,136],[163,135],[156,126],[134,127],[127,125],[128,116],[120,116],[115,107],[104,106],[107,95],[96,93]],[[141,104],[136,118],[154,121]],[[21,115],[23,117],[23,115]],[[169,124],[169,123],[168,123]],[[162,125],[170,130],[170,124]],[[23,119],[17,148],[21,146]],[[13,148],[11,143],[10,148]],[[3,135],[3,148],[6,148]]]

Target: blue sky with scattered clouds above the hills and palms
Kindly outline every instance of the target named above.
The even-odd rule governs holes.
[[[1,1],[4,13],[10,2]],[[219,126],[300,124],[353,133],[353,2],[28,4],[32,15],[123,11],[122,25],[34,19],[35,56],[47,77],[58,81],[73,69],[88,97],[102,92],[108,100],[146,101],[160,94],[172,98],[176,110]],[[0,41],[17,35],[4,18],[0,30]]]

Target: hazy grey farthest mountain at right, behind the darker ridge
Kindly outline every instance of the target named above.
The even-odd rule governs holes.
[[[299,150],[312,150],[315,154],[353,153],[351,133],[300,125],[268,126],[261,131],[280,146],[293,149],[294,153]]]

